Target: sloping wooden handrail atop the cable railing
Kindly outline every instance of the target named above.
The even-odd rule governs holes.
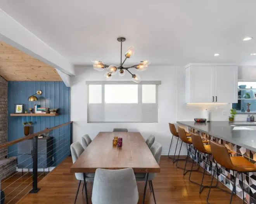
[[[73,121],[69,121],[69,122],[67,122],[67,123],[59,124],[59,125],[54,126],[54,127],[52,127],[52,128],[48,128],[48,129],[46,129],[46,130],[42,130],[42,131],[39,131],[39,132],[37,132],[37,133],[33,133],[33,134],[31,134],[31,135],[18,138],[18,139],[16,139],[16,140],[12,140],[12,141],[10,141],[10,142],[5,142],[5,143],[3,143],[3,144],[0,145],[0,149],[5,149],[5,148],[7,148],[7,147],[9,147],[9,146],[11,146],[11,145],[17,144],[17,143],[22,142],[22,141],[24,141],[24,140],[29,140],[29,139],[31,139],[31,138],[33,138],[33,137],[36,137],[36,136],[38,136],[38,135],[41,135],[41,134],[43,134],[43,133],[48,133],[48,132],[50,132],[50,131],[52,131],[52,130],[55,130],[55,129],[57,129],[57,128],[60,128],[60,127],[62,127],[62,126],[65,126],[65,125],[67,125],[67,124],[70,124],[70,123],[73,123]]]

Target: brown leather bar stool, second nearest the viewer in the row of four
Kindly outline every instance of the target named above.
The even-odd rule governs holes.
[[[211,145],[204,145],[203,142],[202,142],[202,138],[200,137],[200,135],[191,133],[191,138],[192,138],[192,144],[193,144],[193,146],[194,146],[195,149],[196,149],[196,150],[195,150],[195,155],[197,154],[197,152],[202,152],[202,153],[206,154],[206,159],[208,158],[208,161],[210,162]],[[232,152],[229,151],[228,153],[231,154]],[[193,169],[193,165],[194,165],[195,159],[196,159],[196,157],[194,157],[194,160],[193,160],[191,169]],[[200,156],[198,157],[198,159],[199,159],[199,164],[200,164]],[[208,164],[209,166],[211,166],[211,164],[207,163],[207,161],[206,161],[206,164]],[[206,172],[206,167],[207,167],[206,164],[205,164],[205,166],[204,166],[204,172],[203,172],[203,175],[202,175],[202,181],[201,181],[201,183],[197,183],[197,182],[194,182],[194,181],[190,180],[192,171],[190,171],[190,175],[189,175],[189,181],[190,181],[190,182],[195,183],[195,184],[197,184],[197,185],[200,185],[199,194],[201,194],[201,192],[202,192],[202,190],[203,190],[204,188],[207,188],[207,187],[209,188],[209,187],[210,187],[209,185],[207,185],[207,186],[206,186],[206,185],[203,185],[204,175],[206,174],[206,173],[205,173],[205,172]],[[210,170],[211,170],[211,168],[210,168]],[[212,172],[211,172],[211,174],[206,174],[206,175],[212,175]],[[217,180],[216,185],[215,185],[215,186],[212,186],[212,187],[214,187],[214,188],[219,188],[219,187],[217,187],[217,185],[218,185],[218,180]],[[222,188],[219,188],[219,189],[224,190],[224,189],[222,189]],[[224,191],[227,192],[226,190],[224,190]]]

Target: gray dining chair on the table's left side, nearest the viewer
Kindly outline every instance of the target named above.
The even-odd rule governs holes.
[[[74,163],[76,161],[76,159],[78,159],[78,157],[83,153],[83,151],[85,149],[80,144],[80,142],[74,142],[70,145],[70,150],[71,150],[72,161]],[[87,182],[93,182],[94,175],[95,175],[95,173],[86,173],[85,174],[86,183]],[[75,176],[76,176],[76,179],[79,180],[79,182],[78,182],[78,188],[77,188],[76,198],[75,198],[74,203],[76,203],[76,199],[77,199],[78,191],[79,191],[79,188],[80,188],[80,185],[81,185],[81,181],[83,181],[83,173],[75,173]],[[85,189],[86,189],[86,183],[84,183]],[[87,197],[87,189],[85,190],[85,195]]]

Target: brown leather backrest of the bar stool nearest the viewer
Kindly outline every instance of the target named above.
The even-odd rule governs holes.
[[[235,167],[230,159],[228,149],[224,145],[213,142],[210,140],[211,154],[218,164],[221,166],[234,170]]]

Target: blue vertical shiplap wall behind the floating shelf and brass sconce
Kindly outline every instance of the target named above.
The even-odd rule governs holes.
[[[28,101],[28,97],[42,90],[42,95],[36,95],[37,101]],[[41,107],[49,107],[50,109],[59,108],[59,116],[10,116],[14,113],[15,104],[25,104],[24,110],[34,108],[35,104]],[[24,137],[23,124],[24,121],[32,121],[33,128],[30,133],[36,133],[51,128],[56,125],[70,121],[70,88],[63,81],[8,81],[8,141]],[[50,134],[54,137],[54,159],[60,158],[64,149],[69,149],[67,145],[64,149],[63,138],[69,135],[69,127],[58,128]],[[66,133],[66,135],[64,134]],[[12,152],[9,156],[17,156],[17,145],[9,147],[8,152]],[[59,162],[57,162],[59,163]],[[56,165],[54,165],[56,166]]]

